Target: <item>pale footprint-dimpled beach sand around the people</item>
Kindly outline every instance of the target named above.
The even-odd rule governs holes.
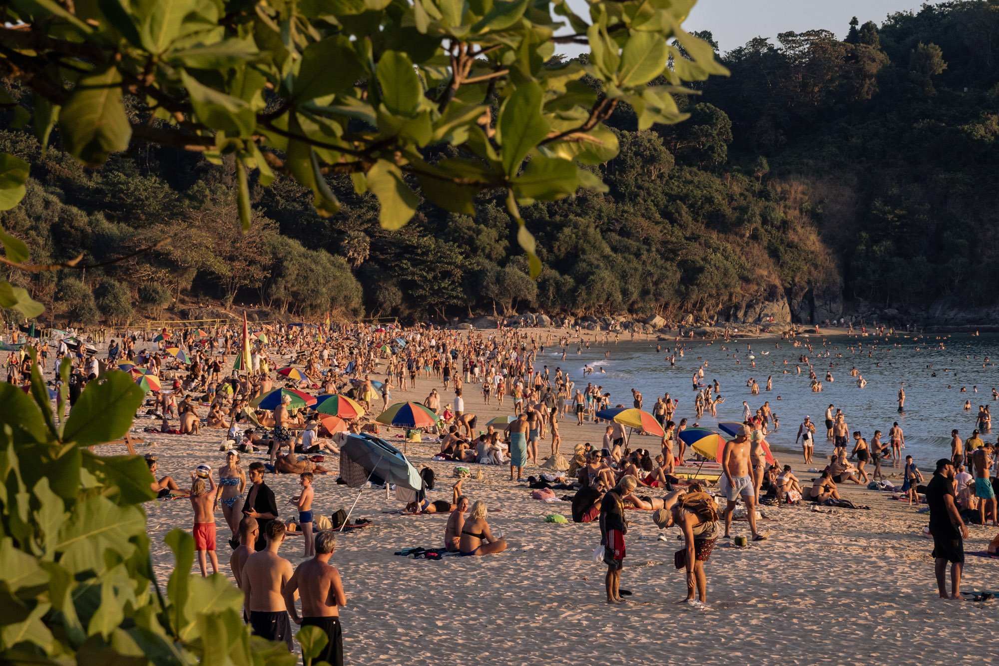
[[[501,409],[495,399],[484,403],[478,385],[466,386],[466,410],[478,414],[481,423],[511,413],[509,398]],[[422,401],[432,387],[443,398],[453,396],[440,380],[421,378],[415,389],[394,389],[393,401]],[[613,401],[622,398],[612,396]],[[215,468],[222,463],[219,447],[225,430],[203,428],[196,436],[142,432],[158,424],[140,416],[133,432],[146,438],[139,453],[159,456],[161,473],[183,483],[197,464]],[[598,444],[603,428],[577,426],[570,417],[561,422],[560,431],[564,454],[576,443]],[[402,445],[396,437],[401,430],[387,433],[383,428],[382,434]],[[631,445],[656,448],[658,440],[637,437]],[[456,463],[431,460],[438,448],[432,442],[408,445],[415,465],[427,464],[437,472],[431,499],[450,498],[455,480]],[[548,450],[549,442],[542,441],[542,459]],[[815,476],[800,463],[800,454],[777,455],[803,481]],[[255,459],[266,460],[266,455],[245,454],[241,462],[245,467]],[[336,456],[327,456],[326,464],[336,468]],[[957,645],[979,659],[999,657],[990,635],[996,602],[937,598],[932,542],[920,536],[927,517],[886,493],[840,485],[844,497],[870,505],[869,511],[762,507],[760,526],[769,531],[767,541],[738,549],[719,539],[706,567],[706,611],[678,604],[685,592],[682,573],[672,566],[681,543],[678,531],[657,529],[648,512],[628,511],[621,586],[633,594],[625,604],[608,608],[605,567],[591,559],[599,542],[597,525],[547,523],[544,517],[550,513],[571,519],[569,503],[531,499],[526,484],[509,480],[506,466],[473,465],[473,473],[477,468],[484,478],[466,481],[465,494],[489,505],[494,532],[501,530],[509,542],[499,555],[440,561],[396,556],[402,548],[440,545],[447,515],[400,515],[393,512],[402,503],[395,497],[387,500],[384,490],[361,491],[352,518],[374,524],[338,536],[331,560],[340,568],[348,595],[341,611],[347,663],[944,663],[953,661]],[[525,473],[538,471],[528,467]],[[336,477],[316,477],[317,514],[349,508],[357,497],[358,490],[337,485]],[[266,482],[277,495],[282,516],[292,516],[285,502],[297,494],[298,476],[268,475]],[[162,539],[175,527],[191,529],[191,506],[186,498],[156,501],[147,511],[154,566],[165,584],[173,559]],[[220,563],[231,578],[229,530],[221,512],[217,523]],[[984,550],[994,528],[970,529],[966,550]],[[666,540],[657,540],[663,533]],[[748,526],[736,522],[732,533],[747,534]],[[281,554],[293,564],[302,561],[301,537],[286,540]],[[999,589],[997,574],[999,560],[969,557],[962,587]]]

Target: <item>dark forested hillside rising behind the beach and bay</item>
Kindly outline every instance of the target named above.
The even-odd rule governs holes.
[[[142,147],[88,170],[58,136],[41,155],[30,132],[6,129],[0,150],[33,166],[0,222],[33,261],[101,263],[169,239],[83,274],[11,280],[63,323],[210,301],[296,317],[540,309],[803,323],[994,306],[999,0],[848,27],[828,26],[842,41],[784,33],[722,54],[731,77],[703,84],[680,125],[637,131],[619,106],[607,124],[620,152],[592,167],[609,191],[521,208],[537,281],[499,195],[475,216],[424,203],[386,231],[346,176],[331,177],[344,204],[332,218],[279,179],[254,188],[258,219],[243,236],[231,169]]]

